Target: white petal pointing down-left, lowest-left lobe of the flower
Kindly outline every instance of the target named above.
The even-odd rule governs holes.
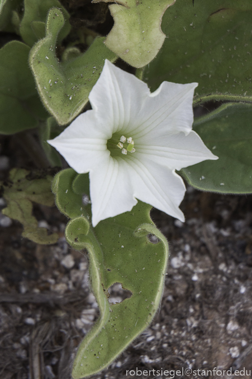
[[[117,214],[131,211],[137,200],[133,197],[131,167],[122,158],[111,158],[100,162],[91,170],[90,197],[92,202],[92,224]]]

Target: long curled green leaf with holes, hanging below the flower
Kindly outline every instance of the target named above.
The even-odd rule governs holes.
[[[79,379],[107,367],[151,322],[162,296],[168,244],[151,221],[151,206],[140,201],[132,211],[93,228],[91,206],[82,204],[82,194],[88,191],[87,174],[78,175],[71,168],[60,171],[53,191],[59,210],[72,219],[66,227],[67,241],[78,250],[88,250],[100,311],[78,349],[72,375]],[[157,244],[149,241],[150,233],[159,238]],[[111,304],[108,289],[116,282],[132,296]]]

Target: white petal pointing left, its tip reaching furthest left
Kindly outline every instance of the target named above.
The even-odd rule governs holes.
[[[58,137],[47,142],[79,174],[89,172],[110,157],[104,130],[92,110],[80,114]]]

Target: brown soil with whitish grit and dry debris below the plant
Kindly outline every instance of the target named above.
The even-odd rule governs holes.
[[[8,165],[17,163],[8,159],[0,156],[1,179]],[[252,196],[189,187],[181,209],[184,224],[152,211],[170,245],[159,311],[149,328],[94,378],[136,377],[129,374],[136,367],[252,370]],[[70,379],[78,344],[98,316],[88,259],[68,247],[67,220],[56,208],[37,207],[35,214],[40,226],[59,232],[57,244],[36,245],[21,237],[18,222],[10,225],[0,217],[0,378]],[[116,285],[111,301],[123,298]],[[152,371],[148,378],[154,377],[168,378]]]

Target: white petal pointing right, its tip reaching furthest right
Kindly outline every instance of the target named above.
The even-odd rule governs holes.
[[[140,142],[138,143],[138,141]],[[206,159],[218,159],[194,131],[188,135],[185,135],[184,132],[171,135],[164,130],[160,131],[159,128],[155,128],[144,137],[135,138],[135,147],[136,157],[141,162],[149,159],[157,165],[176,170],[195,165]]]

